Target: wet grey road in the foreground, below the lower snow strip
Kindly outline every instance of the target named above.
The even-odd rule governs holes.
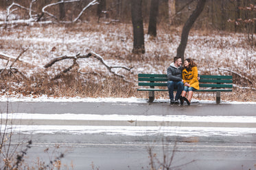
[[[106,134],[36,134],[30,137],[33,139],[33,147],[27,154],[29,158],[38,157],[49,162],[49,155],[58,156],[65,153],[62,163],[71,165],[73,162],[74,169],[78,170],[93,169],[92,162],[95,169],[150,169],[149,149],[151,148],[156,158],[163,162],[163,146],[164,153],[169,156],[168,160],[175,150],[171,167],[184,165],[176,169],[242,170],[254,169],[256,163],[256,143],[241,142],[240,139],[236,142],[235,137],[218,135],[163,137],[159,134],[136,137]],[[19,138],[23,139],[23,135]],[[61,147],[56,149],[56,145]],[[46,148],[49,148],[49,154],[44,152]],[[159,166],[158,160],[155,159],[154,163],[156,167]]]

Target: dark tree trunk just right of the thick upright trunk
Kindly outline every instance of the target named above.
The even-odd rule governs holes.
[[[148,34],[156,37],[156,23],[159,13],[159,0],[151,0],[150,4],[150,23],[148,25]]]

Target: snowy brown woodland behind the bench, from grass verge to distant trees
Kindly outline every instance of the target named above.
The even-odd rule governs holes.
[[[147,98],[136,90],[137,74],[166,72],[183,26],[198,5],[196,0],[154,1],[159,5],[157,27],[150,34],[155,8],[152,1],[140,1],[145,51],[134,53],[132,1],[101,0],[84,10],[91,2],[0,1],[2,95]],[[58,5],[47,7],[54,3]],[[255,3],[207,0],[189,32],[185,57],[198,63],[200,74],[233,75],[233,92],[222,94],[224,100],[256,99]],[[43,14],[44,8],[52,16]],[[62,60],[45,67],[57,57]],[[163,92],[155,96],[168,98]],[[195,97],[214,100],[214,94]]]

